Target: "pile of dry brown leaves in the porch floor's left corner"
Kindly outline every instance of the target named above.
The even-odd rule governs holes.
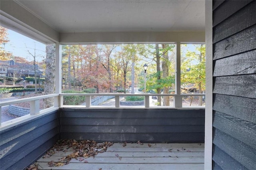
[[[48,150],[48,152],[46,152],[43,158],[50,158],[50,156],[60,151],[73,151],[72,154],[62,157],[58,162],[49,162],[49,166],[63,166],[68,164],[73,158],[80,162],[83,161],[84,163],[88,163],[84,158],[94,158],[98,153],[106,152],[107,148],[112,145],[112,142],[97,143],[93,140],[59,140],[50,150]]]

